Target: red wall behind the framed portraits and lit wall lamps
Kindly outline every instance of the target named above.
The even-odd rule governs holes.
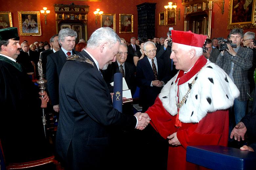
[[[18,13],[17,11],[40,11],[43,7],[47,7],[51,10],[51,13],[47,17],[47,25],[44,24],[44,16],[40,14],[41,18],[41,32],[42,36],[21,36],[21,41],[28,40],[29,43],[34,41],[49,41],[49,39],[56,34],[56,22],[55,22],[55,12],[53,4],[70,4],[75,3],[75,5],[89,5],[89,13],[87,16],[88,25],[87,32],[88,38],[92,34],[92,32],[99,28],[99,23],[95,24],[95,15],[93,11],[96,8],[100,8],[105,13],[116,13],[116,32],[117,34],[124,38],[126,41],[130,41],[131,37],[137,37],[138,34],[138,12],[136,5],[139,5],[144,2],[156,2],[156,36],[162,37],[166,36],[169,26],[159,26],[159,12],[164,11],[164,5],[168,3],[168,0],[159,1],[159,0],[129,0],[129,1],[121,1],[121,0],[101,0],[101,2],[88,2],[88,1],[66,1],[66,0],[44,0],[44,1],[36,1],[36,0],[26,0],[26,1],[7,1],[0,0],[2,2],[0,6],[0,11],[11,11],[12,13],[12,23],[14,27],[18,27]],[[173,1],[175,3],[175,1]],[[181,20],[177,18],[177,25],[173,25],[172,27],[175,30],[183,30],[184,26],[184,7],[181,5],[181,0],[176,1],[178,8],[181,9]],[[225,0],[224,3],[224,14],[221,13],[221,9],[214,4],[213,12],[214,12],[214,21],[212,29],[212,37],[226,37],[230,30],[227,30],[227,17],[228,17],[228,0]],[[119,13],[127,13],[134,15],[134,33],[119,33]],[[256,32],[256,29],[244,30]]]

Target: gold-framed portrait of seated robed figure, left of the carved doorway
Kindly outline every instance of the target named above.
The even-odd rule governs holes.
[[[18,11],[20,35],[41,35],[40,12]]]

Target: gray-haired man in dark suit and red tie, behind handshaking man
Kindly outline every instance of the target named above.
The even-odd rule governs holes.
[[[67,61],[66,58],[76,54],[75,50],[73,50],[76,37],[76,32],[70,28],[60,30],[58,41],[61,49],[47,56],[47,87],[53,110],[56,112],[59,112],[59,74]]]

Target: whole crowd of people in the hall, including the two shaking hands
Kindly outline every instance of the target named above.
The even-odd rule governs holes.
[[[46,107],[58,115],[55,155],[66,169],[120,168],[133,161],[127,155],[138,153],[138,147],[144,152],[141,162],[151,162],[138,168],[149,169],[199,168],[186,162],[189,145],[231,146],[235,139],[246,142],[236,145],[241,150],[256,149],[256,100],[248,102],[256,97],[255,33],[232,29],[226,43],[172,30],[171,36],[126,42],[101,27],[87,42],[76,44],[76,38],[66,28],[50,43],[30,44],[19,41],[17,28],[0,29],[0,103],[6,113],[0,115],[0,142],[6,161],[17,161],[20,155],[12,156],[17,150],[28,149],[26,161],[35,159],[35,151],[39,157],[49,154],[29,146],[47,143],[38,124],[40,108]],[[26,74],[36,72],[39,59],[47,79],[44,93]],[[122,74],[132,95],[139,89],[141,112],[131,103],[123,104],[122,112],[113,108],[115,73]],[[34,124],[24,126],[25,118]],[[2,130],[9,119],[15,137]],[[32,139],[23,131],[41,133]],[[21,140],[25,147],[13,143]],[[127,147],[125,153],[118,147]]]

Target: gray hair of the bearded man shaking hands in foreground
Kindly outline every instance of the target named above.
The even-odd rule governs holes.
[[[114,46],[117,42],[121,44],[121,40],[117,33],[110,27],[101,27],[96,29],[90,39],[87,41],[88,48],[96,48],[100,46],[102,42],[107,42],[109,48]]]

